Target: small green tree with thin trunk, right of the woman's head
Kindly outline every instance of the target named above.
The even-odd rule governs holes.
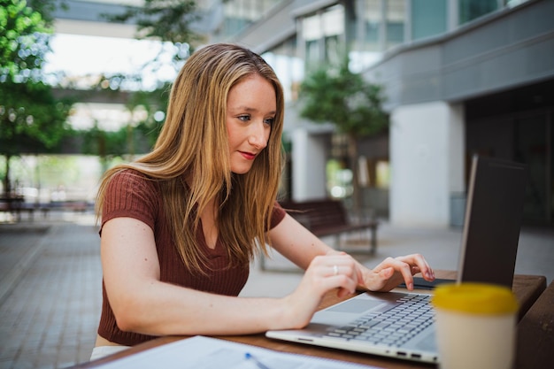
[[[333,123],[336,131],[348,138],[350,170],[353,173],[353,211],[358,215],[358,139],[376,135],[389,127],[383,110],[383,88],[352,73],[348,62],[338,67],[326,65],[308,73],[300,86],[302,117],[318,123]]]

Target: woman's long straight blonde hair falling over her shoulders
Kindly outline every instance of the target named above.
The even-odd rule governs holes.
[[[277,111],[267,146],[250,171],[239,175],[230,169],[227,96],[231,88],[252,74],[273,85]],[[226,43],[197,50],[173,83],[165,123],[154,149],[104,174],[96,215],[101,214],[112,176],[135,169],[158,181],[173,242],[189,270],[204,273],[206,267],[204,254],[196,246],[196,230],[200,210],[212,199],[219,204],[219,238],[227,245],[231,265],[250,262],[258,250],[266,252],[265,243],[269,243],[266,230],[281,179],[283,113],[281,83],[258,54]]]

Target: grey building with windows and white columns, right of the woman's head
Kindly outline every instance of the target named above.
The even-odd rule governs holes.
[[[389,164],[389,188],[370,184],[367,206],[384,198],[391,222],[451,225],[471,157],[481,154],[526,163],[525,221],[552,225],[553,16],[550,0],[281,1],[227,40],[281,58],[285,74],[298,59],[307,68],[345,49],[352,70],[385,87],[389,135],[362,147],[372,163]],[[285,81],[294,96],[299,80]],[[329,128],[298,119],[295,108],[292,98],[291,195],[327,196]]]

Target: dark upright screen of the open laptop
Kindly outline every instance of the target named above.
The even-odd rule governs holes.
[[[473,157],[458,281],[512,288],[526,183],[525,165]]]

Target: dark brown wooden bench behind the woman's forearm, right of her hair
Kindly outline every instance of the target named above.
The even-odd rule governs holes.
[[[342,202],[332,199],[311,200],[305,202],[281,202],[289,215],[318,237],[334,235],[337,248],[342,248],[341,237],[345,234],[370,234],[370,252],[377,250],[376,220],[365,220],[359,223],[350,222]]]

